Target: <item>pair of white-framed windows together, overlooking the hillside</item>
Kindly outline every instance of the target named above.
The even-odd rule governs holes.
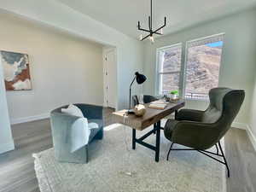
[[[186,99],[207,100],[209,90],[218,87],[223,44],[224,33],[187,42],[186,54],[182,44],[157,49],[158,94],[181,90]]]

